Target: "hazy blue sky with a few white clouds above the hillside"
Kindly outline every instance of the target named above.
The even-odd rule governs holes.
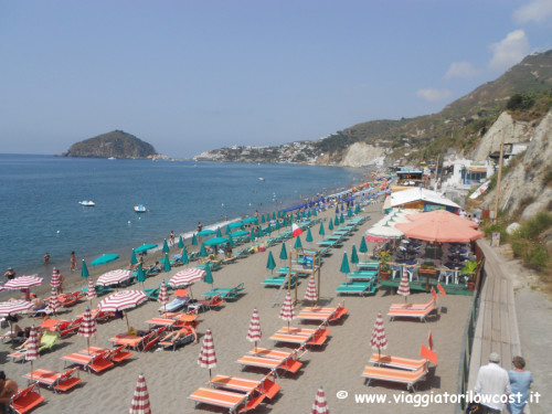
[[[0,0],[0,152],[188,158],[438,113],[552,49],[552,0]]]

